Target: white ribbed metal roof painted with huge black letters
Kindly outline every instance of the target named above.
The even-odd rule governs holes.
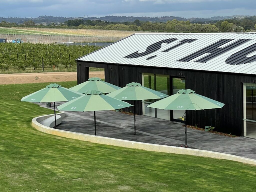
[[[77,60],[256,74],[256,33],[134,34]]]

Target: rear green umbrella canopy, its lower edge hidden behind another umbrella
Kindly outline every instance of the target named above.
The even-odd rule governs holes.
[[[111,93],[117,89],[121,89],[121,87],[112,85],[111,83],[105,81],[101,81],[101,78],[99,77],[92,77],[89,78],[88,81],[71,87],[70,89],[80,93],[86,93],[89,90],[100,91],[102,93]]]

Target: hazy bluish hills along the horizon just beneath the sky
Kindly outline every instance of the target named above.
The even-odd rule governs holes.
[[[189,20],[191,23],[197,22],[209,22],[209,21],[218,21],[224,19],[232,19],[232,18],[244,18],[246,16],[243,15],[234,15],[234,16],[215,16],[210,18],[183,18],[183,17],[175,17],[175,16],[163,16],[163,17],[133,17],[133,16],[105,16],[105,17],[54,17],[54,16],[39,16],[37,18],[20,18],[20,17],[0,17],[0,22],[6,21],[10,23],[18,23],[21,24],[24,21],[33,20],[35,23],[43,23],[43,22],[59,22],[64,23],[68,20],[74,19],[83,19],[83,20],[104,20],[109,22],[134,22],[136,19],[140,21],[150,21],[150,22],[166,22],[168,20],[177,19],[179,21],[187,21]]]

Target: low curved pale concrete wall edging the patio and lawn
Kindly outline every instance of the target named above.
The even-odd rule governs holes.
[[[61,115],[62,117],[64,117],[65,112],[58,113],[58,115]],[[146,150],[146,151],[175,153],[175,154],[182,154],[182,155],[195,155],[195,156],[210,157],[210,158],[217,158],[217,159],[227,159],[227,160],[237,161],[237,162],[241,162],[241,163],[256,165],[256,160],[254,160],[254,159],[239,157],[239,156],[235,156],[235,155],[229,155],[229,154],[225,154],[225,153],[217,153],[217,152],[212,152],[212,151],[190,149],[190,148],[183,148],[183,147],[174,147],[174,146],[167,146],[167,145],[134,142],[134,141],[127,141],[127,140],[115,139],[115,138],[110,138],[110,137],[101,137],[101,136],[88,135],[88,134],[83,134],[83,133],[75,133],[75,132],[70,132],[70,131],[53,129],[53,128],[41,125],[39,123],[42,120],[44,120],[50,116],[52,116],[52,114],[36,117],[32,120],[32,125],[37,130],[44,132],[44,133],[57,135],[57,136],[61,136],[61,137],[72,138],[72,139],[78,139],[78,140],[82,140],[82,141],[89,141],[92,143],[135,148],[135,149],[141,149],[141,150]]]

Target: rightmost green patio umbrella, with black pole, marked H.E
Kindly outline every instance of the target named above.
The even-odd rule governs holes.
[[[182,89],[178,93],[156,101],[147,107],[163,110],[205,110],[222,108],[225,104],[196,94],[191,89]],[[186,122],[186,121],[185,121]],[[185,143],[187,146],[187,123],[185,123]]]

